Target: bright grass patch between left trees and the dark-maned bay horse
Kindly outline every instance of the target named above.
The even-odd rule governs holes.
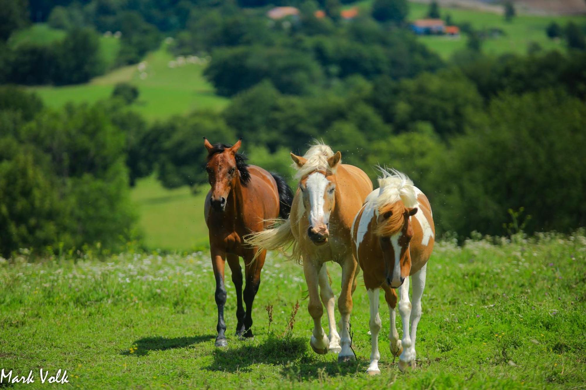
[[[189,251],[208,245],[203,203],[207,187],[196,195],[188,187],[168,190],[154,178],[138,180],[131,199],[138,208],[144,244],[151,249]]]

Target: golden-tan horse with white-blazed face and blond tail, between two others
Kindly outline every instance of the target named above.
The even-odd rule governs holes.
[[[293,244],[293,258],[303,259],[309,292],[308,311],[314,319],[311,347],[318,354],[328,350],[338,352],[338,361],[348,361],[355,358],[350,347],[349,320],[357,268],[350,228],[364,199],[372,191],[372,183],[362,170],[341,164],[341,156],[340,152],[334,154],[329,146],[319,143],[303,157],[291,153],[298,169],[299,188],[289,219],[277,228],[253,234],[246,240],[266,249]],[[342,293],[338,299],[341,338],[336,330],[335,300],[324,264],[331,260],[342,266]],[[321,325],[320,296],[328,312],[329,337]]]

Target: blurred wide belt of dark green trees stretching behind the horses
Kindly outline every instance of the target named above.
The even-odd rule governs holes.
[[[291,23],[238,5],[197,4],[171,47],[211,54],[205,76],[231,97],[222,112],[147,124],[126,106],[139,93],[131,85],[62,110],[0,88],[2,254],[134,240],[129,187],[156,175],[205,188],[203,136],[242,136],[251,163],[287,177],[289,151],[314,138],[372,179],[373,165],[399,169],[430,197],[438,234],[507,234],[513,217],[527,232],[586,223],[584,51],[468,49],[442,61],[396,20],[315,18],[332,2],[302,2]]]

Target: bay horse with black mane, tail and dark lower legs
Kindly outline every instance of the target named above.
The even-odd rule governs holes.
[[[204,145],[208,152],[206,170],[212,186],[206,196],[205,217],[216,278],[216,347],[226,347],[224,262],[228,259],[232,282],[236,288],[236,335],[253,337],[251,313],[267,252],[249,247],[244,244],[242,237],[251,231],[262,231],[267,227],[264,220],[278,216],[287,218],[293,193],[281,177],[258,166],[247,165],[246,158],[237,153],[241,140],[230,146],[212,145],[204,138]],[[244,258],[246,312],[242,306],[242,269],[239,256]]]

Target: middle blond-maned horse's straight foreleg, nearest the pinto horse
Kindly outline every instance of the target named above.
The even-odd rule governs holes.
[[[352,351],[352,340],[350,339],[350,313],[352,313],[352,284],[356,272],[356,259],[349,256],[342,263],[342,292],[338,299],[338,310],[340,310],[340,344],[342,351],[338,355],[338,362],[355,360]]]

